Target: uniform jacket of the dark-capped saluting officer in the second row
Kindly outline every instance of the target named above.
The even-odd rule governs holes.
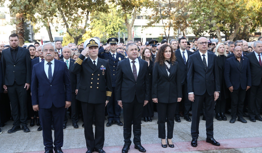
[[[115,53],[115,60],[110,52],[105,52],[104,48],[101,48],[98,52],[98,57],[104,60],[107,60],[110,66],[112,87],[115,87],[115,78],[116,78],[116,67],[119,61],[124,60],[125,56],[120,53]]]

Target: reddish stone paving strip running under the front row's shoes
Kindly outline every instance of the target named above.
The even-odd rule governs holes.
[[[160,141],[160,140],[159,140]],[[200,150],[218,150],[218,149],[232,149],[232,148],[253,148],[262,147],[262,137],[256,138],[236,138],[236,139],[222,139],[217,140],[221,145],[214,146],[206,141],[198,141],[197,147],[191,147],[190,142],[173,142],[175,148],[162,148],[161,144],[143,144],[143,147],[147,150],[147,153],[169,153],[169,152],[181,152],[181,151],[200,151]],[[110,146],[104,147],[106,153],[121,153],[123,146]],[[87,148],[81,149],[63,149],[64,153],[85,153]],[[134,148],[134,145],[130,146],[129,153],[140,153]],[[25,152],[25,153],[44,153],[43,151]]]

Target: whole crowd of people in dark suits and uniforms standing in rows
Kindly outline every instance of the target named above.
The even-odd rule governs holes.
[[[144,45],[141,40],[125,45],[109,38],[102,44],[94,37],[77,46],[62,46],[60,40],[18,44],[18,35],[12,34],[9,45],[0,45],[0,126],[12,119],[8,133],[30,132],[30,120],[30,127],[36,124],[43,132],[45,153],[62,153],[67,111],[74,128],[83,121],[87,153],[105,152],[105,120],[106,127],[123,126],[122,153],[131,145],[132,125],[135,148],[146,152],[141,120],[151,122],[154,111],[163,148],[174,147],[174,123],[181,122],[180,117],[192,122],[192,147],[197,147],[202,115],[206,141],[216,146],[220,143],[213,137],[214,111],[218,121],[227,121],[225,113],[231,114],[230,123],[247,123],[243,117],[262,121],[262,37],[223,43],[181,37],[169,43],[152,39]]]

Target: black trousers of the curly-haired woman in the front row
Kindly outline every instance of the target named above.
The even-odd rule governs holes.
[[[175,107],[177,103],[157,103],[158,138],[165,139],[165,119],[167,117],[167,138],[173,138]]]

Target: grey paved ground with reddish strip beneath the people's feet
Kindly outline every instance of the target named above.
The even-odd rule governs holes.
[[[221,146],[213,146],[205,142],[206,131],[205,121],[200,120],[200,135],[198,138],[198,147],[193,148],[190,145],[191,122],[187,122],[181,117],[181,122],[175,122],[173,143],[175,148],[162,148],[161,139],[158,138],[157,113],[154,114],[152,122],[142,121],[141,143],[148,153],[258,153],[262,152],[262,122],[251,122],[248,118],[247,124],[236,121],[230,124],[228,121],[217,121],[214,118],[214,138],[221,143]],[[200,117],[202,119],[202,117]],[[121,118],[121,121],[123,119]],[[106,124],[107,121],[105,121]],[[64,153],[85,153],[87,151],[84,129],[82,121],[79,121],[78,129],[74,129],[69,120],[67,128],[64,130]],[[31,132],[24,133],[17,131],[8,134],[7,131],[12,128],[12,121],[9,121],[5,127],[2,127],[3,133],[0,134],[0,153],[44,153],[42,131],[37,131],[38,126],[30,127]],[[107,153],[121,153],[123,141],[123,127],[112,125],[105,127],[104,150]],[[133,140],[133,135],[131,140]],[[133,144],[133,143],[132,143]],[[138,153],[132,145],[129,153]]]

